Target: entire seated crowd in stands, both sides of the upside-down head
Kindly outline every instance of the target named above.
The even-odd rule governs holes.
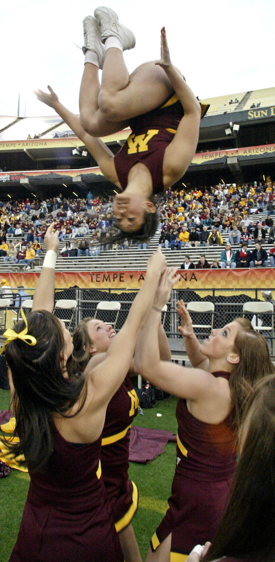
[[[268,258],[274,267],[274,193],[270,178],[259,184],[170,189],[159,204],[159,245],[171,251],[223,246],[218,264],[216,260],[209,264],[204,250],[195,265],[185,256],[183,269],[267,266]],[[60,241],[66,242],[60,250],[63,257],[96,257],[104,250],[127,250],[127,239],[108,244],[115,232],[112,202],[112,198],[93,197],[91,192],[82,199],[59,194],[41,202],[0,202],[0,257],[5,263],[30,269],[43,252],[41,244],[52,221]],[[253,214],[256,221],[251,220]],[[269,256],[263,243],[273,244]],[[238,248],[235,251],[231,246]],[[138,244],[138,249],[147,248],[148,242]]]

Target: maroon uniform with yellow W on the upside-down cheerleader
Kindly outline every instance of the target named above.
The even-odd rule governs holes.
[[[183,106],[174,94],[161,107],[128,121],[132,133],[114,157],[123,190],[127,187],[130,169],[141,162],[152,176],[153,194],[164,191],[162,163],[165,149],[173,140],[183,116]]]

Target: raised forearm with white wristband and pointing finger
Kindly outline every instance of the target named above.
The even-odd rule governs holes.
[[[55,262],[59,248],[58,231],[53,232],[53,228],[54,223],[50,224],[44,237],[46,255],[35,289],[32,311],[43,309],[53,312]]]

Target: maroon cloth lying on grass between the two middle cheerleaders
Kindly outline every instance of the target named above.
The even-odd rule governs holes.
[[[129,461],[148,464],[164,453],[168,441],[176,442],[172,431],[148,429],[132,425],[130,431]]]

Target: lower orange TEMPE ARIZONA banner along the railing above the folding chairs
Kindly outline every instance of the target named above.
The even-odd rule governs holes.
[[[272,289],[275,270],[261,269],[190,269],[181,270],[181,278],[176,289]],[[139,289],[145,278],[145,271],[76,271],[55,273],[55,288],[67,289]],[[26,289],[35,288],[39,273],[1,273],[10,287],[24,285]]]

